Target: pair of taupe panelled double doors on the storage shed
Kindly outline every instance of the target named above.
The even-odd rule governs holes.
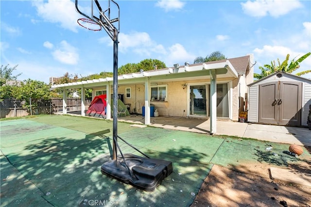
[[[259,122],[301,125],[300,82],[278,81],[259,86]]]

